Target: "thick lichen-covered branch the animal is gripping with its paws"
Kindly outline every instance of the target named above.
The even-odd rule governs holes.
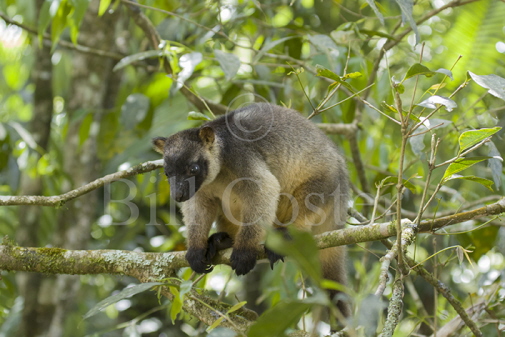
[[[419,232],[436,229],[483,216],[505,212],[505,198],[479,209],[454,214],[436,220],[423,221]],[[316,235],[319,249],[353,243],[384,240],[396,236],[394,222],[353,226]],[[166,277],[173,270],[188,267],[185,252],[141,253],[120,250],[65,250],[61,248],[24,248],[0,245],[0,269],[29,271],[44,274],[120,274],[133,277],[156,275]],[[221,251],[215,264],[230,264],[231,249]],[[265,258],[264,249],[258,246],[258,258]],[[164,272],[166,271],[166,273]],[[147,273],[147,274],[146,274]],[[144,275],[145,274],[145,275]]]

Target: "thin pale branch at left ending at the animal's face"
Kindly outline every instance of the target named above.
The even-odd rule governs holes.
[[[0,196],[0,206],[36,205],[59,207],[65,204],[65,202],[96,190],[105,184],[109,184],[119,179],[131,177],[137,174],[150,172],[160,167],[163,167],[163,160],[160,159],[155,161],[148,161],[133,166],[127,170],[106,175],[70,192],[50,197],[38,195]]]

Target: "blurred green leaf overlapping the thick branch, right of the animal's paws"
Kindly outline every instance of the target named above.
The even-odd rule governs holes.
[[[307,232],[289,231],[291,238],[286,240],[281,233],[270,230],[266,245],[269,249],[294,259],[298,267],[313,281],[319,284],[322,280],[319,250],[314,237]],[[303,247],[303,250],[299,247]]]

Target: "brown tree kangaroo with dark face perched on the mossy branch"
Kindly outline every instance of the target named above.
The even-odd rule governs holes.
[[[183,202],[186,259],[197,272],[210,271],[216,251],[233,246],[232,268],[248,273],[265,226],[292,225],[319,234],[345,223],[345,161],[333,142],[294,110],[252,104],[153,144],[164,156],[172,196]],[[218,233],[209,238],[214,222]],[[272,263],[280,258],[268,256]],[[345,284],[345,247],[321,250],[320,258],[324,277]],[[339,308],[349,315],[345,303]]]

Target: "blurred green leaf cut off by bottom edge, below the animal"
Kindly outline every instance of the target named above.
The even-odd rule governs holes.
[[[265,311],[249,330],[248,337],[284,336],[284,331],[298,322],[314,304],[287,300]]]

